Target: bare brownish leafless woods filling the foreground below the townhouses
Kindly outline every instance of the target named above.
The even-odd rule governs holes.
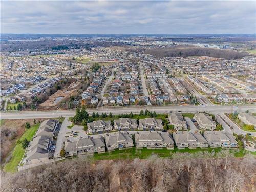
[[[196,157],[197,158],[196,158]],[[228,151],[176,153],[172,159],[101,160],[79,157],[23,172],[2,173],[2,188],[37,191],[255,191],[255,158]]]

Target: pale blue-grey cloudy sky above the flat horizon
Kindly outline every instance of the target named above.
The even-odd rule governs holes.
[[[256,1],[3,1],[1,33],[256,33]]]

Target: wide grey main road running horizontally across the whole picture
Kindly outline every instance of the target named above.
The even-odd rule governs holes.
[[[93,112],[112,113],[139,113],[140,110],[150,110],[156,111],[157,113],[169,113],[172,112],[183,112],[183,113],[196,113],[196,112],[209,112],[209,113],[230,113],[233,112],[233,106],[118,106],[118,107],[108,107],[99,109],[87,109],[89,114]],[[237,112],[256,112],[255,106],[239,106]],[[75,110],[65,110],[65,111],[21,111],[21,112],[1,112],[0,119],[35,119],[35,118],[54,118],[54,117],[70,117],[73,116]]]

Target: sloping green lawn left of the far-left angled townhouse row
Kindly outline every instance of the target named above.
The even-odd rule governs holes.
[[[22,160],[22,157],[24,155],[25,149],[22,148],[22,141],[27,138],[29,141],[32,140],[32,137],[35,135],[35,132],[37,131],[39,127],[39,123],[33,125],[29,129],[25,129],[25,132],[23,133],[22,137],[17,140],[16,146],[12,152],[12,157],[10,161],[5,165],[4,171],[5,172],[16,172],[17,166],[19,162]]]

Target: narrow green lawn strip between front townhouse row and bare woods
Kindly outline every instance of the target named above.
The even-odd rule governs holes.
[[[133,147],[133,148],[125,149],[125,150],[115,150],[112,152],[106,152],[106,153],[100,153],[100,154],[95,153],[93,156],[93,159],[95,161],[110,160],[110,159],[135,159],[135,158],[147,159],[148,157],[150,157],[153,154],[156,154],[157,156],[162,157],[162,158],[171,158],[172,155],[177,152],[181,152],[181,153],[188,152],[188,153],[192,153],[192,154],[196,155],[196,153],[204,152],[204,151],[208,151],[208,152],[214,151],[216,154],[216,153],[220,152],[221,150],[222,150],[221,148],[215,148],[215,149],[212,149],[212,148],[206,148],[206,149],[185,148],[184,150],[178,150],[178,148],[176,148],[176,147],[174,148],[174,150],[167,150],[166,148],[157,149],[157,150],[149,150],[147,148],[136,149],[135,147]],[[234,152],[234,157],[243,157],[246,153],[249,153],[246,150],[239,150],[239,151],[230,150],[230,152]],[[253,153],[251,153],[251,154],[253,154]],[[256,155],[256,153],[254,153],[253,155]]]

